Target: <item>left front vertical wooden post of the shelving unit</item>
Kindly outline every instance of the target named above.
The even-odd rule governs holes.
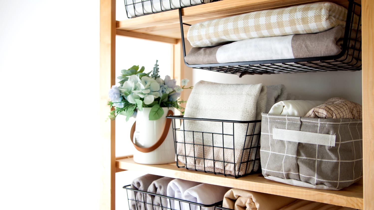
[[[100,0],[100,210],[115,209],[115,122],[107,120],[108,91],[115,83],[116,0]],[[106,121],[107,120],[107,121]],[[105,122],[106,121],[106,122]]]

